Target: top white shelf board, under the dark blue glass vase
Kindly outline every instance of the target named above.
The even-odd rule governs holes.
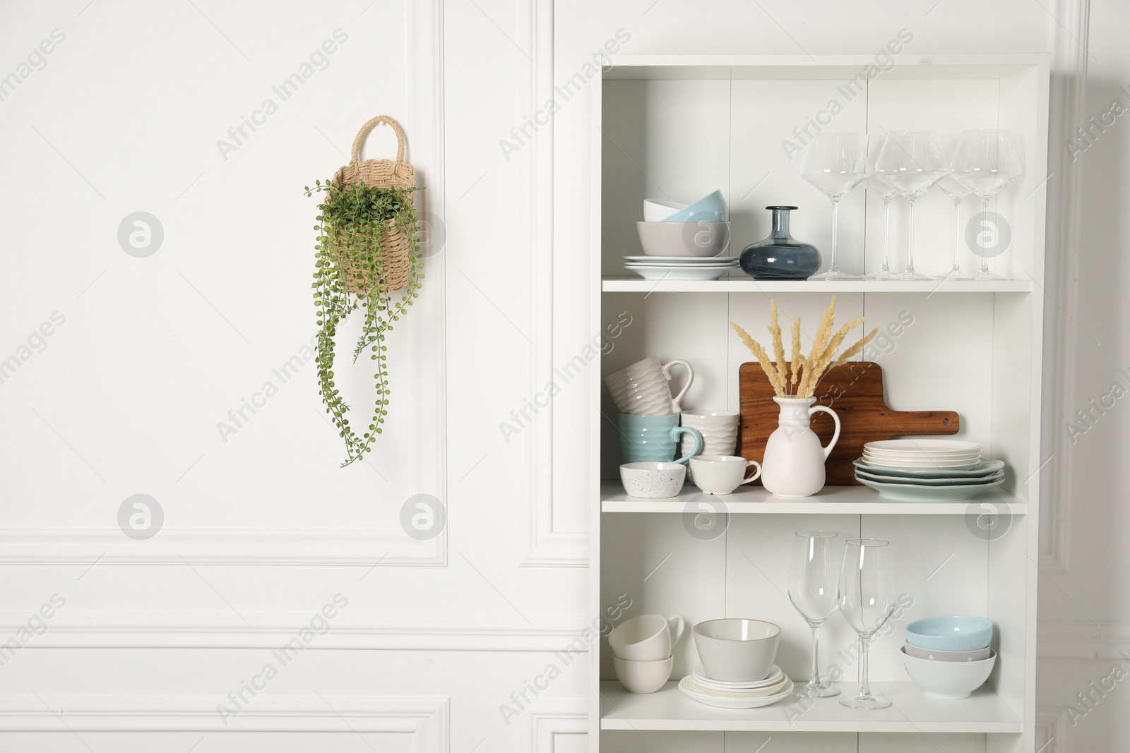
[[[606,277],[605,292],[1032,292],[1032,280],[751,280],[729,274],[721,280],[644,280]]]

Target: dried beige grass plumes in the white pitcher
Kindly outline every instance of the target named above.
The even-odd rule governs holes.
[[[843,353],[836,358],[836,351],[843,344],[844,338],[847,333],[854,330],[857,326],[867,321],[867,317],[861,317],[858,319],[852,319],[847,324],[840,327],[840,331],[832,334],[832,329],[835,326],[836,318],[836,298],[832,297],[832,303],[828,304],[828,308],[824,312],[824,316],[820,317],[820,326],[816,331],[816,336],[812,339],[812,350],[808,356],[803,356],[800,352],[800,317],[798,316],[792,323],[792,374],[790,376],[789,368],[785,366],[784,360],[784,343],[781,340],[781,325],[777,321],[777,307],[775,300],[770,300],[770,336],[773,339],[773,356],[776,358],[776,364],[770,360],[770,356],[765,352],[765,349],[756,340],[749,336],[749,333],[742,330],[734,322],[730,322],[730,326],[733,331],[738,333],[741,341],[745,343],[746,348],[757,358],[757,362],[760,364],[762,370],[765,371],[765,376],[768,377],[770,384],[773,385],[773,392],[777,397],[812,397],[816,393],[816,386],[820,383],[820,378],[832,366],[841,366],[846,362],[852,356],[857,356],[863,350],[863,347],[871,341],[871,339],[878,334],[878,330],[871,330],[871,332],[862,338],[854,345],[845,350]],[[793,393],[789,392],[789,388],[794,389]]]

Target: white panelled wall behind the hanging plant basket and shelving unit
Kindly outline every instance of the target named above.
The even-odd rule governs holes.
[[[586,663],[564,666],[551,651],[585,612],[586,571],[575,567],[586,557],[583,481],[570,473],[589,437],[576,410],[583,389],[563,391],[551,422],[541,411],[510,441],[498,423],[516,426],[511,411],[592,335],[570,315],[586,301],[564,295],[585,273],[576,255],[588,227],[571,218],[588,211],[589,165],[577,158],[593,135],[586,97],[515,154],[499,140],[619,28],[631,54],[869,52],[902,27],[915,52],[1053,50],[1057,72],[1086,64],[1080,112],[1097,116],[1125,82],[1128,19],[1121,3],[1095,0],[1088,36],[1072,20],[1086,18],[1080,1],[5,3],[0,76],[23,73],[53,29],[66,35],[0,100],[0,359],[20,360],[0,384],[5,640],[53,594],[66,605],[0,666],[0,747],[181,751],[203,737],[201,752],[345,751],[359,745],[355,729],[390,751],[579,745]],[[216,141],[338,28],[348,41],[329,67],[225,159]],[[1072,56],[1072,37],[1092,54]],[[446,230],[427,296],[394,343],[403,360],[391,369],[383,441],[371,464],[337,467],[341,448],[307,365],[225,443],[217,422],[314,329],[313,200],[301,189],[330,175],[359,125],[382,113],[405,124]],[[1125,277],[1125,139],[1120,119],[1075,163],[1078,279],[1063,307],[1079,331],[1045,351],[1074,365],[1060,375],[1050,431],[1107,392],[1118,368],[1130,370],[1112,305]],[[374,138],[365,154],[389,148]],[[1057,201],[1050,217],[1069,217]],[[164,229],[146,259],[116,238],[136,211]],[[1064,297],[1053,295],[1050,316]],[[54,312],[66,322],[21,351]],[[364,379],[350,386],[364,400]],[[1046,516],[1058,523],[1042,558],[1045,655],[1130,648],[1127,584],[1112,564],[1125,525],[1110,513],[1119,508],[1106,470],[1124,454],[1124,422],[1120,402],[1075,445],[1054,445],[1046,473],[1070,483]],[[447,510],[429,542],[399,523],[421,491]],[[134,493],[164,511],[149,542],[116,527]],[[281,542],[275,551],[238,533],[262,528]],[[397,564],[367,572],[364,562],[386,552]],[[329,564],[280,564],[295,560]],[[337,593],[349,605],[329,633],[225,728],[215,704]],[[1122,683],[1075,726],[1063,708],[1112,662],[1041,660],[1044,734],[1057,737],[1049,753],[1118,748],[1130,704]],[[551,663],[562,676],[507,725],[499,704]],[[320,695],[350,698],[328,706]],[[60,706],[111,713],[76,712],[72,733],[47,710]],[[253,732],[223,732],[236,726]],[[281,729],[305,734],[272,732]]]

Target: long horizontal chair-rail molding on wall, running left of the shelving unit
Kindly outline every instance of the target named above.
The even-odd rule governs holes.
[[[275,649],[310,627],[308,612],[78,612],[60,610],[32,648]],[[250,627],[244,623],[246,620]],[[584,615],[354,613],[344,610],[310,649],[558,651],[584,630]],[[28,613],[0,612],[0,634]],[[0,655],[2,658],[2,655]]]

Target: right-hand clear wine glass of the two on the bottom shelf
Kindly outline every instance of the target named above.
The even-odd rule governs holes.
[[[841,698],[840,703],[853,709],[890,706],[887,699],[871,694],[867,680],[868,645],[895,611],[889,544],[881,539],[849,539],[840,568],[840,612],[859,633],[859,694]]]

